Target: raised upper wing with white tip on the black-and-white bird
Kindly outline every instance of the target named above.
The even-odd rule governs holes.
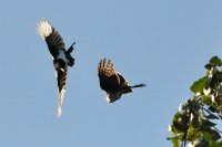
[[[57,59],[58,50],[64,49],[64,42],[58,31],[48,22],[40,21],[37,25],[37,32],[46,40],[49,51],[53,59]]]

